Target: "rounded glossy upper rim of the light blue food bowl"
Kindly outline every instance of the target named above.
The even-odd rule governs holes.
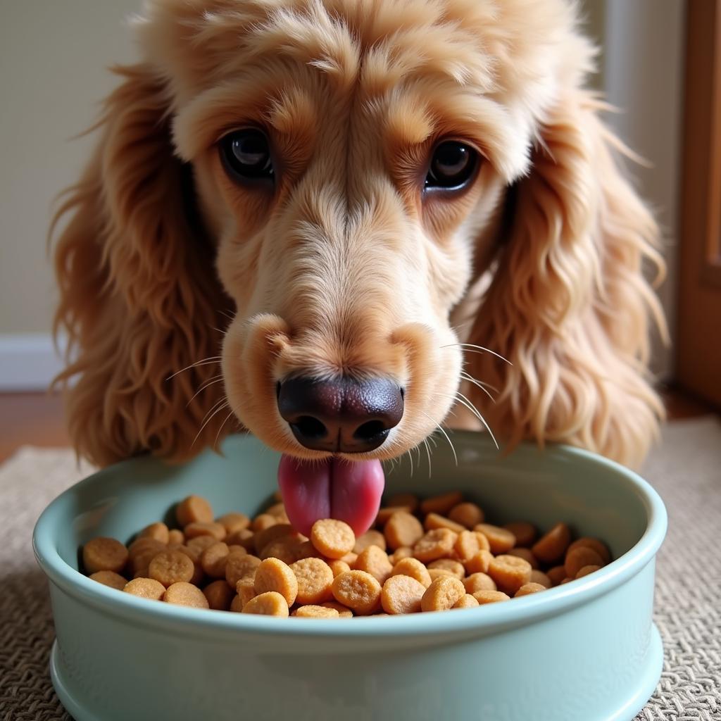
[[[469,435],[483,439],[472,431],[454,431],[454,436]],[[533,443],[521,443],[519,446],[537,448]],[[257,634],[265,638],[278,637],[288,640],[315,638],[317,640],[342,640],[360,637],[389,639],[392,637],[418,637],[426,640],[442,635],[490,634],[510,627],[531,624],[548,616],[562,614],[575,606],[593,601],[609,593],[637,575],[650,562],[663,542],[668,525],[665,505],[658,492],[640,475],[606,459],[603,456],[585,451],[583,448],[548,443],[544,454],[556,458],[576,458],[605,466],[609,472],[620,474],[629,482],[640,498],[647,514],[647,526],[641,538],[632,548],[609,565],[571,583],[549,588],[544,593],[533,593],[514,599],[514,603],[491,603],[485,606],[482,614],[477,609],[456,609],[448,614],[407,614],[399,616],[354,616],[353,619],[295,619],[292,616],[278,619],[255,614],[234,614],[225,612],[199,612],[205,609],[193,609],[172,606],[167,603],[149,603],[126,593],[119,593],[71,567],[58,553],[53,541],[52,531],[56,526],[53,515],[56,506],[63,497],[76,492],[79,487],[97,482],[99,476],[107,472],[116,472],[123,466],[132,466],[138,459],[120,461],[82,479],[63,491],[48,504],[35,523],[32,533],[32,547],[40,568],[54,583],[69,596],[107,615],[119,616],[133,622],[134,625],[154,629],[174,629],[182,624],[184,631],[193,635],[221,634]]]

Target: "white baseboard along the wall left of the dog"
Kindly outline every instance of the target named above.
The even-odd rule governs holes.
[[[45,391],[65,366],[65,340],[58,350],[50,333],[0,333],[0,391]]]

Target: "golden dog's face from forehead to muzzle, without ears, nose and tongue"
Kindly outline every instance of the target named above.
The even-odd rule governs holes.
[[[553,98],[558,58],[542,31],[565,5],[278,7],[168,2],[143,30],[236,304],[226,393],[263,441],[314,458],[325,446],[298,441],[278,407],[283,384],[385,379],[402,415],[354,457],[397,456],[454,403],[451,311]],[[193,42],[168,40],[172,22]]]

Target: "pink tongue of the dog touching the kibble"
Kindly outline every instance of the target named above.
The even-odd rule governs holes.
[[[319,518],[337,518],[359,536],[376,518],[385,477],[380,461],[301,461],[283,454],[278,485],[296,531],[309,536]]]

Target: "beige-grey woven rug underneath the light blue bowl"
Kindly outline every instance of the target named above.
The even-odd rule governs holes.
[[[48,677],[53,622],[30,536],[45,505],[88,472],[71,451],[29,447],[0,466],[2,721],[70,719]],[[671,423],[642,474],[665,500],[669,526],[655,597],[663,674],[636,721],[719,720],[721,422],[705,417]]]

